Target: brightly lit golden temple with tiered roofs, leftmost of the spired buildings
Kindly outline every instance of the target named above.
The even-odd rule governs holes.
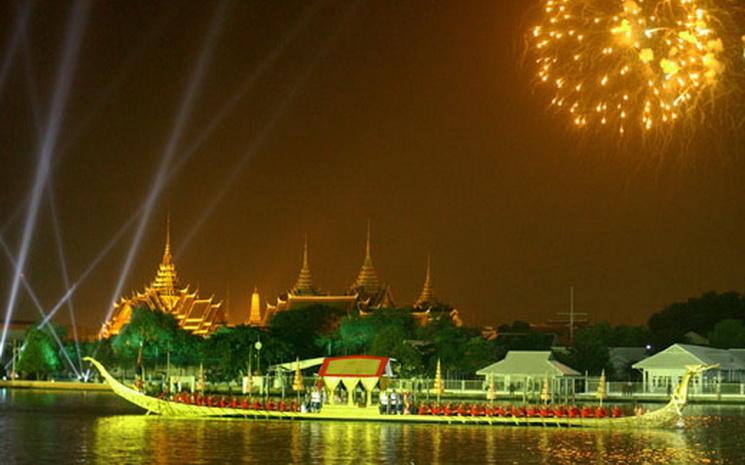
[[[199,291],[191,292],[189,286],[181,287],[171,255],[170,231],[166,232],[163,259],[152,283],[142,292],[129,298],[122,297],[114,307],[111,319],[100,331],[107,338],[118,334],[132,318],[138,307],[171,313],[181,328],[200,336],[207,336],[226,324],[222,302],[213,302],[213,297],[199,297]]]

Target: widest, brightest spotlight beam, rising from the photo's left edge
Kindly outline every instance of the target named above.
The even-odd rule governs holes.
[[[49,119],[44,130],[44,139],[39,154],[39,164],[36,168],[36,176],[31,190],[29,210],[26,214],[26,221],[24,222],[23,234],[21,236],[21,244],[18,253],[18,266],[16,267],[13,276],[13,282],[10,286],[10,293],[8,296],[8,303],[5,309],[5,325],[3,326],[2,335],[0,335],[0,358],[2,358],[5,350],[5,339],[8,335],[8,323],[10,323],[10,317],[15,308],[21,275],[26,266],[28,251],[31,245],[34,228],[36,226],[36,218],[39,213],[41,194],[46,185],[46,178],[49,175],[52,153],[54,152],[57,142],[62,114],[64,113],[67,94],[72,81],[73,70],[77,62],[77,56],[80,49],[79,45],[83,36],[83,30],[85,28],[89,9],[90,1],[80,0],[75,3],[70,16],[68,34],[65,39],[63,56],[58,71],[57,84],[54,89],[52,104],[49,109]]]

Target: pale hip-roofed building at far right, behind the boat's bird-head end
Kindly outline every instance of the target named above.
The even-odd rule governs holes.
[[[719,366],[691,379],[690,390],[693,393],[711,392],[723,382],[745,381],[745,353],[736,349],[673,344],[662,352],[635,363],[632,368],[641,370],[644,392],[667,393],[683,377],[686,366],[698,364]]]

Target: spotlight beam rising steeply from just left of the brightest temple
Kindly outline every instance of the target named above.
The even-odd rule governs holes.
[[[179,106],[176,113],[176,120],[168,138],[168,142],[166,143],[160,165],[158,166],[155,179],[153,180],[153,185],[151,186],[150,191],[145,198],[144,209],[142,211],[142,214],[140,215],[134,237],[132,238],[132,243],[130,244],[126,259],[124,261],[124,265],[122,266],[121,273],[119,274],[119,279],[117,280],[116,286],[114,288],[114,293],[109,300],[112,303],[122,292],[124,282],[127,279],[129,270],[132,266],[132,262],[134,261],[134,257],[140,248],[140,243],[145,232],[147,220],[150,218],[150,214],[155,207],[156,200],[158,199],[158,196],[162,188],[164,187],[168,169],[171,166],[171,160],[176,153],[178,143],[181,139],[181,134],[184,130],[184,127],[186,126],[186,122],[188,121],[189,116],[191,115],[191,110],[194,104],[194,100],[196,99],[197,90],[201,87],[202,78],[212,57],[214,44],[217,39],[220,26],[225,17],[227,5],[228,2],[226,0],[221,1],[216,13],[212,18],[212,22],[210,24],[204,46],[202,47],[199,56],[199,60],[196,67],[194,68],[194,71],[192,72],[188,86],[186,88],[186,92],[184,93],[183,99],[181,101],[181,105]],[[110,305],[109,309],[106,312],[104,322],[108,321],[109,318],[111,318],[111,314],[113,311],[114,306]]]

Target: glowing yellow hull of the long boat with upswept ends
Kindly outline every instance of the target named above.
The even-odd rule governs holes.
[[[680,424],[683,409],[688,403],[688,384],[693,376],[714,366],[688,366],[685,375],[672,393],[670,401],[663,407],[639,415],[603,418],[583,418],[568,416],[471,416],[471,415],[384,415],[377,406],[357,407],[351,405],[324,405],[320,412],[306,413],[296,411],[257,410],[234,408],[230,406],[195,405],[172,400],[160,399],[145,395],[132,389],[114,378],[97,360],[85,357],[93,364],[101,376],[118,396],[144,409],[146,414],[181,418],[245,418],[276,420],[341,420],[341,421],[383,421],[400,423],[447,423],[447,424],[480,424],[505,426],[554,426],[577,428],[608,429],[662,429]]]

